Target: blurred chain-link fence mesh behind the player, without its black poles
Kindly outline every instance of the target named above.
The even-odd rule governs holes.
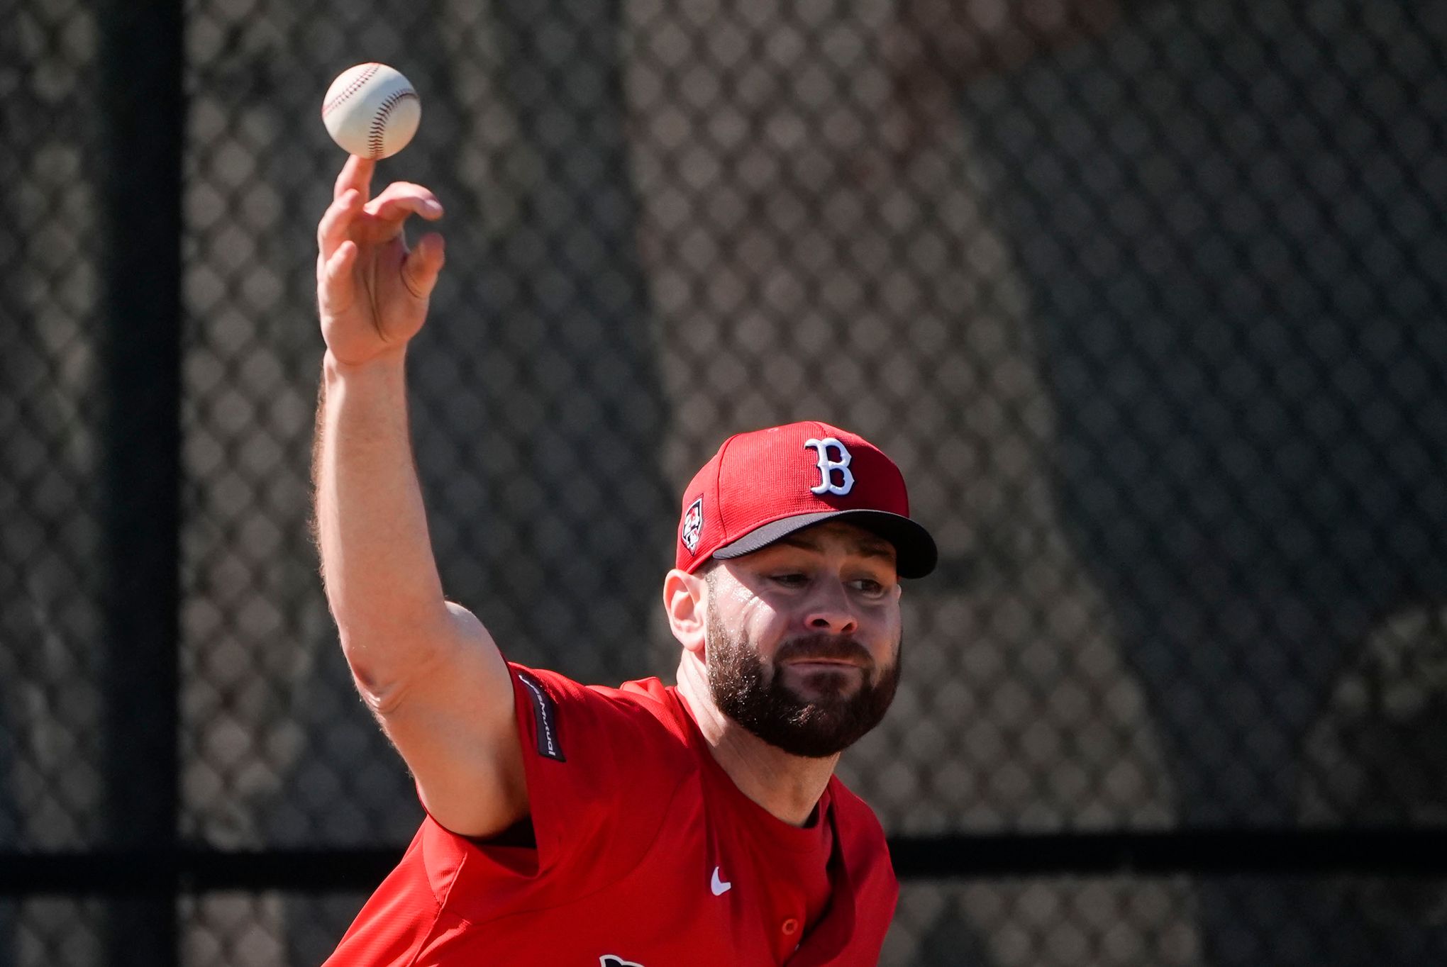
[[[124,743],[97,184],[127,159],[93,12],[0,12],[4,863],[104,846]],[[436,549],[511,658],[667,678],[682,484],[729,432],[826,419],[943,555],[842,766],[891,835],[1447,825],[1447,1],[182,14],[179,841],[420,818],[307,522],[317,107],[368,59],[424,104],[379,178],[449,211],[411,351]],[[1447,958],[1440,880],[958,873],[906,882],[883,963]],[[317,963],[360,899],[179,896],[181,963]],[[109,916],[0,901],[0,964],[124,963]]]

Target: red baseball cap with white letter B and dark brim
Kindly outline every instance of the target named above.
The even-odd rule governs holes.
[[[878,447],[828,424],[735,434],[683,491],[677,567],[738,558],[823,520],[842,519],[894,545],[901,578],[935,570],[933,538],[909,516],[904,474]]]

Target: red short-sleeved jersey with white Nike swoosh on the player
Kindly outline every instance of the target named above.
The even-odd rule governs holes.
[[[327,967],[873,967],[899,883],[829,779],[803,828],[751,801],[657,678],[512,665],[532,844],[430,817]]]

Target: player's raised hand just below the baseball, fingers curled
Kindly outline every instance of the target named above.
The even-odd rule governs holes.
[[[443,217],[421,185],[394,182],[376,198],[376,162],[352,156],[337,175],[331,207],[317,225],[317,308],[331,356],[357,366],[407,347],[427,319],[443,267],[443,237],[423,236],[408,250],[402,225],[411,215]]]

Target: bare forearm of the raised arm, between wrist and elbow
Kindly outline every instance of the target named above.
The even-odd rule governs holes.
[[[373,701],[449,639],[412,461],[402,353],[347,367],[327,353],[314,452],[317,543],[347,662]]]

